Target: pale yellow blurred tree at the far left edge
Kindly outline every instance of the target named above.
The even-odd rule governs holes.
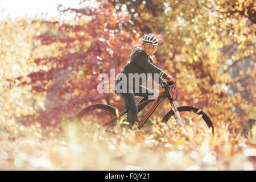
[[[30,92],[31,85],[13,84],[13,81],[19,84],[16,77],[29,80],[26,75],[43,69],[32,63],[42,52],[44,55],[49,53],[33,40],[38,28],[24,19],[7,19],[0,23],[0,120],[3,122],[44,109],[44,98],[39,93]]]

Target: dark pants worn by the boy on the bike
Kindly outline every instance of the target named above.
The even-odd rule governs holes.
[[[138,104],[140,104],[141,102],[148,100],[149,96],[154,96],[155,93],[152,90],[147,89],[146,87],[141,86],[141,85],[139,86],[139,92],[138,93],[135,92],[135,91],[137,91],[135,89],[131,89],[131,90],[133,90],[133,92],[131,92],[131,93],[130,92],[129,93],[122,93],[121,95],[123,97],[123,100],[125,101],[125,106],[126,106],[126,109],[127,109],[127,122],[129,122],[131,124],[131,126],[133,126],[134,121],[135,121],[135,119],[137,117],[137,114],[138,114],[138,107],[137,107],[134,96],[143,97],[138,102]]]

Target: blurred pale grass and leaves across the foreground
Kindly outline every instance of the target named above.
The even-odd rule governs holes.
[[[255,170],[256,126],[249,137],[189,131],[155,121],[144,131],[108,133],[102,127],[78,135],[63,119],[63,131],[0,122],[1,170]]]

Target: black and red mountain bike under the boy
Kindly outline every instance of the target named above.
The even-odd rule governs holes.
[[[141,129],[143,125],[148,121],[148,118],[154,112],[156,107],[158,107],[163,100],[168,98],[171,104],[171,110],[168,111],[166,115],[164,115],[161,122],[167,123],[168,121],[169,122],[176,121],[176,125],[179,127],[187,127],[187,126],[193,127],[196,125],[197,129],[199,126],[201,128],[202,127],[204,128],[206,124],[209,129],[212,128],[212,134],[214,133],[213,123],[211,119],[208,117],[208,115],[204,113],[203,110],[193,106],[179,106],[179,107],[176,106],[175,100],[177,98],[177,89],[175,87],[174,82],[172,81],[164,82],[162,88],[165,89],[164,92],[159,93],[158,96],[152,97],[138,105],[138,112],[140,112],[143,106],[146,106],[150,102],[155,101],[155,103],[151,106],[150,110],[147,111],[147,113],[138,123],[138,129]],[[174,90],[173,94],[172,94],[172,90]],[[176,97],[174,98],[173,96],[175,92],[176,92]],[[114,131],[113,128],[115,126],[114,124],[115,121],[117,121],[118,118],[121,118],[125,114],[127,114],[127,110],[119,113],[114,107],[110,105],[93,104],[93,105],[86,106],[84,109],[82,109],[76,115],[75,121],[78,124],[80,122],[84,122],[88,125],[90,125],[91,123],[93,124],[95,122],[100,122],[99,126],[106,127],[107,131]],[[193,117],[189,115],[187,116],[186,114],[193,114]],[[195,122],[193,122],[194,119],[196,119]],[[203,120],[203,122],[199,122],[198,119]],[[199,125],[197,125],[196,123]]]

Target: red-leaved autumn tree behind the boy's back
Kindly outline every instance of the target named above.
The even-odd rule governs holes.
[[[59,6],[63,9],[63,6]],[[115,75],[127,62],[131,51],[131,38],[136,34],[123,30],[122,24],[129,22],[129,17],[115,11],[108,2],[98,9],[63,9],[75,11],[80,15],[75,22],[51,22],[34,20],[32,23],[47,26],[47,32],[36,36],[44,46],[54,47],[54,56],[39,57],[34,60],[38,67],[47,67],[27,75],[30,81],[20,85],[32,85],[32,92],[46,96],[46,110],[39,110],[36,115],[27,115],[24,123],[39,121],[43,126],[59,126],[61,119],[73,119],[79,109],[93,102],[112,104],[113,94],[97,94],[97,75],[115,68]],[[93,28],[92,28],[93,27]],[[117,101],[118,102],[118,101]],[[119,101],[120,102],[120,101]]]

